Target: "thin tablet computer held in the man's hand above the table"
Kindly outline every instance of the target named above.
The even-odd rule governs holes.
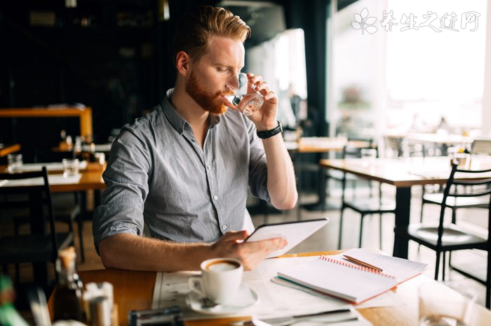
[[[275,224],[260,225],[250,234],[245,241],[260,241],[271,238],[283,238],[288,241],[285,248],[270,253],[267,258],[284,255],[291,248],[297,246],[300,242],[314,234],[318,229],[328,224],[329,218],[319,218],[316,220],[302,220],[295,222],[282,222]]]

